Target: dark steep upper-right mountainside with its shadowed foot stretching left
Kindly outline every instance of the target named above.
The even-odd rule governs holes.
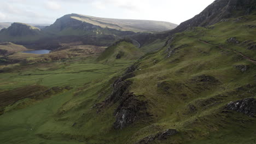
[[[232,17],[255,14],[255,0],[216,0],[200,14],[192,19],[182,22],[179,26],[168,32],[158,34],[138,34],[132,38],[141,45],[154,43],[155,40],[165,41],[169,35],[183,32],[190,27],[207,27],[219,21],[225,21]]]

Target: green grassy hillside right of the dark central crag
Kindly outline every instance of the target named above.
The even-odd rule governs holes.
[[[220,22],[214,29],[194,28],[176,34],[167,47],[174,45],[173,49],[178,50],[169,58],[165,48],[142,59],[141,70],[133,78],[131,91],[146,96],[155,123],[137,131],[130,139],[131,143],[151,135],[155,129],[162,131],[167,128],[181,133],[156,143],[254,143],[255,118],[222,111],[230,101],[255,98],[255,63],[232,50],[199,41],[219,44],[254,58],[255,50],[248,50],[243,44],[226,43],[230,37],[239,41],[255,40],[255,28],[247,26],[251,23],[255,23],[255,16],[239,22],[235,19]],[[241,64],[249,65],[250,69],[242,73],[234,67]],[[219,83],[194,80],[203,74],[215,77]],[[248,87],[248,84],[252,86]],[[166,87],[169,88],[166,90]],[[190,105],[197,110],[190,110]]]

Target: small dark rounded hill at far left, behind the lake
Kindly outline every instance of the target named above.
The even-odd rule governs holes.
[[[0,31],[0,41],[31,41],[39,39],[40,35],[39,28],[15,22],[7,29]]]

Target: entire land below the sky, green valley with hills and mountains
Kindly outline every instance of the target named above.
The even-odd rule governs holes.
[[[216,0],[179,26],[69,14],[1,30],[1,143],[255,143],[255,5]]]

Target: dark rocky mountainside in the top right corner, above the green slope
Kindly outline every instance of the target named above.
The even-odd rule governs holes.
[[[251,14],[255,11],[255,5],[255,0],[216,0],[200,14],[182,22],[174,31],[181,32],[188,27],[210,26],[222,19]]]

